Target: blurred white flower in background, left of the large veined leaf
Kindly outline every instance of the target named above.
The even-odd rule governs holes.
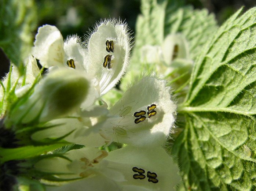
[[[139,60],[132,62],[132,70],[124,77],[121,89],[130,80],[139,78],[142,72],[153,73],[168,81],[168,86],[175,89],[178,102],[184,99],[190,78],[193,60],[190,58],[189,45],[182,34],[167,35],[160,45],[143,45],[138,49]]]

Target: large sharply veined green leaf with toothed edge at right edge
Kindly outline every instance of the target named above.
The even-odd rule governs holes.
[[[173,155],[187,190],[256,190],[256,7],[241,12],[205,46],[180,107]]]

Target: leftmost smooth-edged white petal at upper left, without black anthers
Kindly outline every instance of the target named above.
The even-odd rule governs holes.
[[[46,68],[62,66],[64,62],[64,41],[61,32],[51,25],[39,27],[34,41],[32,55]]]

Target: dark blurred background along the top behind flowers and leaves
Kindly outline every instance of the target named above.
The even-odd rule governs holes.
[[[1,1],[1,0],[0,0]],[[162,1],[162,0],[159,0]],[[179,0],[177,0],[179,1]],[[256,6],[255,0],[185,0],[194,8],[207,8],[223,23],[240,7],[244,11]],[[135,22],[140,14],[140,0],[35,0],[37,5],[37,27],[44,24],[55,25],[64,39],[67,35],[78,34],[83,37],[96,21],[104,18],[120,18],[128,23],[133,35]],[[34,35],[37,29],[34,30]],[[9,69],[9,61],[0,49],[0,76]]]

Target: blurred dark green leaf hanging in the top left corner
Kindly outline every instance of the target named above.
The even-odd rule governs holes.
[[[0,2],[0,47],[20,69],[32,46],[35,27],[36,7],[33,0]]]

